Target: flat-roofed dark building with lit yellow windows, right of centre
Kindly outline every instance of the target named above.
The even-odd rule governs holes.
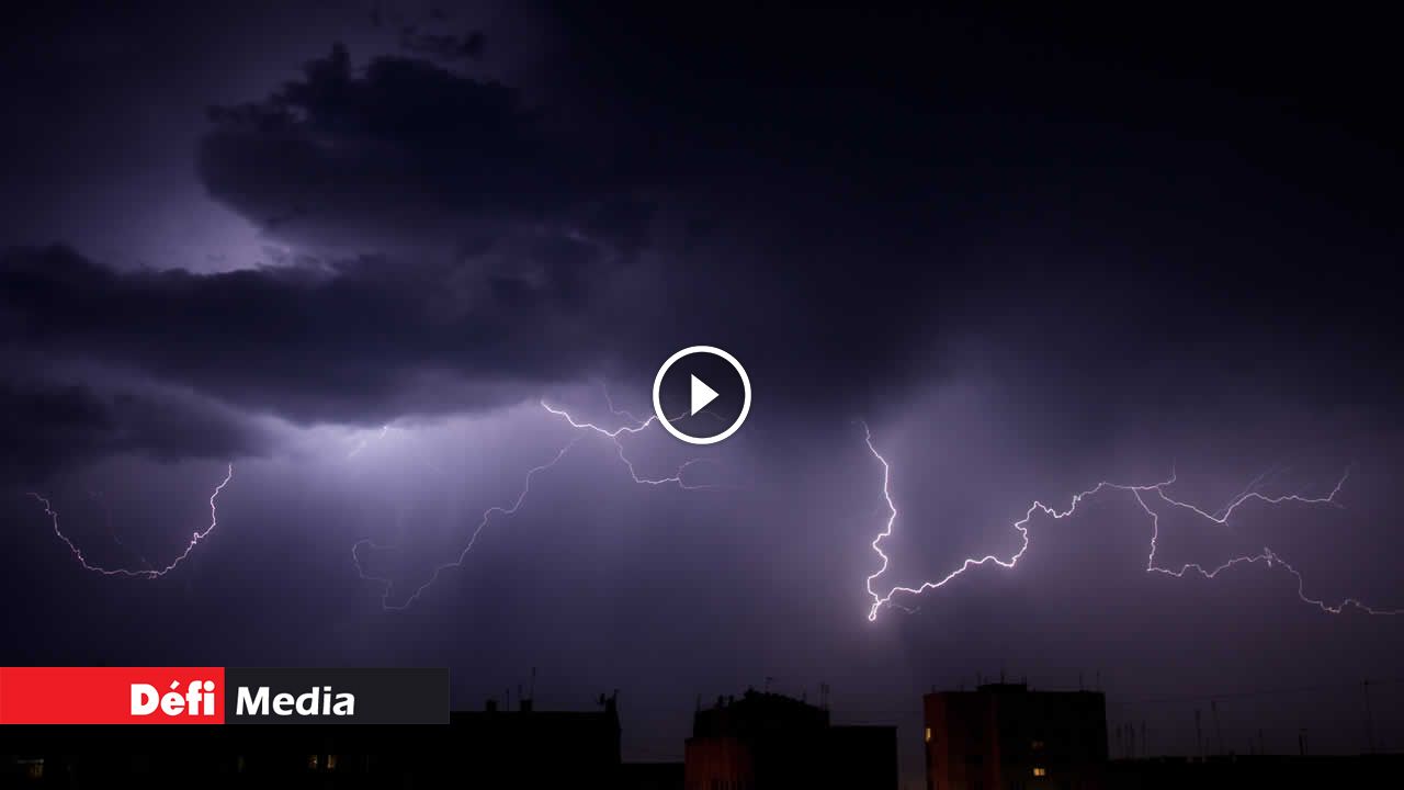
[[[922,699],[927,790],[1099,790],[1106,697],[986,683]]]

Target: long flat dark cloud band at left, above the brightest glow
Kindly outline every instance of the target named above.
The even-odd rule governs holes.
[[[592,349],[608,344],[588,297],[552,254],[541,252],[539,270],[484,280],[456,267],[404,277],[373,260],[118,273],[63,247],[10,250],[0,302],[10,342],[29,351],[293,420],[383,422],[490,408],[598,363]]]

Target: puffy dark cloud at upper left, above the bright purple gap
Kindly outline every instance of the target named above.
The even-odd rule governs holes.
[[[358,73],[338,45],[267,100],[209,117],[209,193],[285,239],[376,252],[541,224],[567,233],[635,202],[515,90],[427,59],[373,58]]]

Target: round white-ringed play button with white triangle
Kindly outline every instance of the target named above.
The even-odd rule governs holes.
[[[751,380],[716,346],[689,346],[668,357],[653,380],[653,410],[668,433],[688,444],[716,444],[751,410]]]

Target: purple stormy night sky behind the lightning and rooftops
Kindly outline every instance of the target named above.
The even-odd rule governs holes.
[[[1165,507],[1157,562],[1404,607],[1394,28],[674,6],[14,11],[0,663],[446,665],[459,707],[535,666],[538,707],[619,689],[632,759],[827,683],[910,776],[977,675],[1099,683],[1154,752],[1214,696],[1228,748],[1359,751],[1369,679],[1404,748],[1404,616],[1147,572],[1130,492],[865,588],[866,425],[879,592],[1104,479],[1214,513],[1349,470]],[[717,446],[541,405],[636,425],[699,343],[754,387]],[[140,572],[230,464],[154,579],[29,496]]]

